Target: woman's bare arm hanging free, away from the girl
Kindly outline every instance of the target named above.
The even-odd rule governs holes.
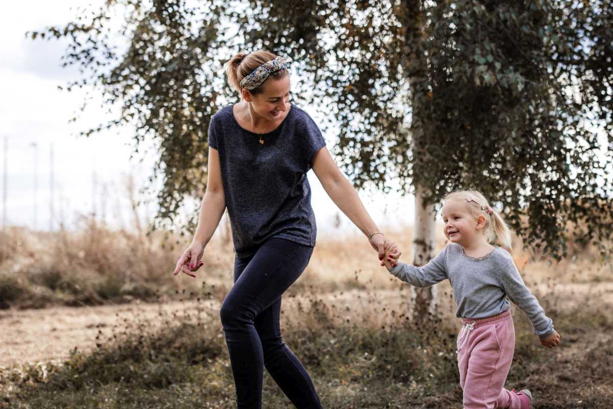
[[[200,259],[204,253],[204,248],[207,247],[209,240],[211,240],[225,209],[226,197],[224,196],[224,188],[221,183],[219,152],[209,147],[207,191],[200,205],[198,227],[196,228],[191,245],[189,245],[179,258],[179,261],[177,261],[175,275],[182,271],[191,277],[196,277],[195,272],[202,265]]]

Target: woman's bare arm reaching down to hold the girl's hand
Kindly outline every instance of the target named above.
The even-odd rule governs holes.
[[[313,158],[313,172],[317,175],[319,182],[326,190],[330,199],[340,208],[341,212],[351,220],[364,235],[367,237],[373,233],[378,233],[379,229],[375,222],[370,218],[364,204],[357,196],[349,180],[338,169],[337,164],[330,156],[327,148],[321,148]],[[370,244],[379,252],[379,259],[383,259],[383,245],[385,237],[383,234],[375,234],[371,237]]]

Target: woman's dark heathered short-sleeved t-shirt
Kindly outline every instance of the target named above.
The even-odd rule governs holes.
[[[208,145],[219,152],[221,180],[238,258],[272,237],[315,245],[317,227],[307,172],[326,142],[308,113],[291,105],[283,122],[262,135],[242,128],[232,105],[216,113]]]

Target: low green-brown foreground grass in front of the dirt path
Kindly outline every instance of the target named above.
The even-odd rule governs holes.
[[[456,321],[432,318],[417,327],[387,310],[384,315],[392,319],[373,326],[367,317],[346,319],[316,297],[301,308],[300,321],[284,319],[284,339],[309,370],[324,407],[462,407]],[[609,317],[579,310],[554,315],[563,343],[546,350],[520,314],[514,314],[517,346],[508,386],[530,387],[539,397],[535,408],[609,408],[606,390],[613,389],[596,386],[613,386],[608,365],[613,346],[606,337],[593,338],[611,334]],[[160,309],[158,323],[126,321],[99,340],[93,353],[74,351],[64,362],[4,370],[0,408],[234,407],[234,381],[218,317]],[[590,392],[577,403],[575,395],[560,393],[560,384]],[[264,405],[292,407],[266,372]]]

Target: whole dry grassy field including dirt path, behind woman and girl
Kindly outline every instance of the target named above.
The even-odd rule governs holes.
[[[410,229],[389,237],[410,261]],[[232,284],[227,240],[211,242],[195,279],[173,277],[186,242],[162,235],[88,223],[9,229],[0,243],[0,408],[234,407],[218,318]],[[514,256],[562,343],[541,347],[514,308],[509,388],[529,387],[535,408],[613,407],[611,263],[592,248],[552,264]],[[436,313],[414,323],[410,286],[365,239],[320,239],[284,296],[284,339],[326,408],[461,408],[449,283],[436,297]],[[292,407],[267,375],[264,407]]]

